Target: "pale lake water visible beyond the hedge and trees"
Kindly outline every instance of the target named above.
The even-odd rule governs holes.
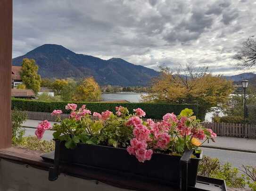
[[[113,101],[113,100],[127,100],[129,102],[140,102],[141,95],[147,95],[147,93],[133,93],[133,92],[121,92],[121,93],[103,93],[102,98],[104,101]],[[211,122],[214,112],[209,112],[206,114],[205,121]],[[223,116],[223,113],[220,112],[220,116]]]

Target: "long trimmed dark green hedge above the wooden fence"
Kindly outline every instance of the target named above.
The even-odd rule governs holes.
[[[26,111],[37,111],[37,112],[52,112],[54,109],[61,109],[62,111],[68,113],[65,110],[65,106],[70,102],[43,102],[28,99],[12,99],[12,108],[17,108]],[[158,103],[99,103],[99,102],[72,102],[81,107],[83,104],[86,105],[91,112],[102,112],[102,111],[112,111],[115,112],[116,106],[127,107],[132,113],[132,109],[140,107],[146,112],[146,118],[152,119],[162,119],[163,115],[166,113],[174,113],[176,115],[180,114],[182,109],[190,108],[193,109],[194,114],[198,114],[198,105],[192,104],[158,104]]]

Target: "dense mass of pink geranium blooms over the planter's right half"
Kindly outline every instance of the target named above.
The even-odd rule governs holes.
[[[188,143],[184,144],[186,146],[191,145],[189,141],[192,138],[204,140],[216,137],[212,130],[203,128],[195,116],[177,117],[173,113],[167,113],[161,122],[154,122],[152,119],[143,122],[140,117],[145,116],[145,112],[140,108],[133,111],[135,115],[126,122],[127,126],[133,127],[133,138],[130,140],[127,152],[135,155],[140,162],[150,160],[155,150],[166,151],[170,148],[171,141],[175,143],[177,138],[187,141]]]

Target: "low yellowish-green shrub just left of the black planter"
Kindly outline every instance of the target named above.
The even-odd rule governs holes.
[[[44,153],[49,153],[55,149],[55,143],[53,140],[39,140],[35,136],[21,138],[21,141],[15,145]]]

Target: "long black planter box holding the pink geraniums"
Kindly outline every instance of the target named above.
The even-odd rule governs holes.
[[[180,156],[153,153],[151,160],[139,162],[126,149],[101,145],[77,144],[75,149],[67,149],[65,142],[60,143],[60,161],[77,165],[86,165],[105,169],[134,173],[140,176],[154,178],[179,186]],[[188,164],[188,185],[195,186],[197,181],[198,158],[191,158]]]

